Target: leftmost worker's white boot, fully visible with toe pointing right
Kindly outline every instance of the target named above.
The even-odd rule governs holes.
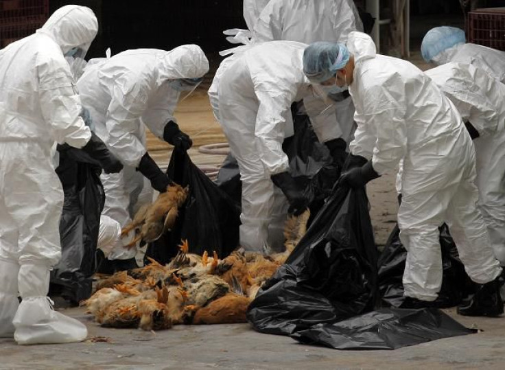
[[[53,310],[52,301],[47,297],[47,266],[21,265],[18,281],[23,299],[13,321],[14,339],[18,344],[72,343],[86,338],[88,331],[84,324]]]

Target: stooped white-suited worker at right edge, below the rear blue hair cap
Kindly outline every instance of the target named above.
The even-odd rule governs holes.
[[[453,102],[475,147],[479,207],[495,257],[505,265],[505,84],[473,65],[425,71]]]

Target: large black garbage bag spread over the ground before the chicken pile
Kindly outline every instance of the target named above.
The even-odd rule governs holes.
[[[263,333],[336,349],[395,349],[470,334],[439,310],[384,308],[364,189],[337,187],[304,238],[250,303]]]

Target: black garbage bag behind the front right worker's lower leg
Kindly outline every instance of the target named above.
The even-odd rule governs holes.
[[[439,230],[443,280],[436,301],[438,307],[453,307],[461,303],[462,299],[473,291],[473,284],[465,271],[465,266],[459,259],[458,249],[449,234],[447,224],[443,224]],[[407,251],[401,244],[397,224],[392,230],[378,262],[381,305],[385,307],[399,307],[403,303],[402,277],[406,258]]]

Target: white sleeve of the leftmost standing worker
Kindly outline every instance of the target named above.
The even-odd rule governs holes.
[[[82,148],[91,138],[91,131],[80,117],[82,106],[69,65],[63,57],[38,58],[40,109],[51,127],[51,136],[60,144]]]

